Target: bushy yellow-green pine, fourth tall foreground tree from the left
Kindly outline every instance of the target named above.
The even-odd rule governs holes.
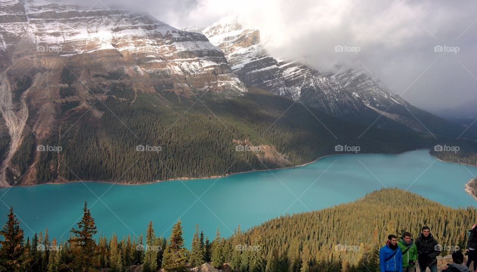
[[[169,242],[164,250],[162,268],[164,271],[185,271],[187,262],[187,249],[184,248],[182,226],[180,220],[172,228]]]

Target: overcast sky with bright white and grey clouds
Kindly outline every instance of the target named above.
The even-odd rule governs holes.
[[[476,0],[100,0],[96,5],[101,1],[144,8],[177,28],[240,16],[260,30],[273,56],[301,59],[320,71],[333,64],[364,70],[426,109],[477,99]],[[335,52],[335,46],[354,52]],[[447,52],[435,52],[435,46]]]

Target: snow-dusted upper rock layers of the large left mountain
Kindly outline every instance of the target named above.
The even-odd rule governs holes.
[[[0,0],[0,5],[0,51],[31,45],[41,55],[72,57],[109,50],[120,54],[135,75],[193,75],[192,81],[176,84],[180,89],[191,84],[189,89],[244,91],[222,52],[204,35],[151,16],[49,0]]]

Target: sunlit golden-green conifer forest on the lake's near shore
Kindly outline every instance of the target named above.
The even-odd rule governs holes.
[[[156,236],[151,222],[145,236],[96,237],[86,203],[68,241],[50,240],[47,231],[25,241],[10,210],[0,231],[0,271],[128,271],[135,266],[169,272],[209,262],[239,272],[376,272],[378,249],[388,234],[409,231],[417,237],[427,225],[447,255],[465,248],[467,230],[476,220],[475,207],[454,209],[401,189],[381,189],[351,203],[275,218],[246,232],[238,228],[228,238],[217,230],[215,239],[209,239],[196,226],[187,249],[180,220],[168,239]]]

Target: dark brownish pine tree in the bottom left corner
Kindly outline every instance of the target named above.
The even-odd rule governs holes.
[[[28,269],[31,259],[23,246],[23,230],[10,207],[8,220],[0,231],[0,271],[19,272]]]

